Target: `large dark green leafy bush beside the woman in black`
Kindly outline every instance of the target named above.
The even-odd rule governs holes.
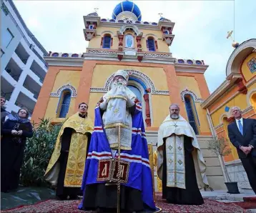
[[[34,135],[26,140],[24,163],[21,167],[21,184],[45,186],[44,173],[54,151],[61,125],[52,125],[50,119],[33,124]]]

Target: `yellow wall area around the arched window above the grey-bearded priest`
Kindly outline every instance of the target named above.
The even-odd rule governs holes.
[[[177,79],[179,82],[180,92],[184,89],[189,89],[197,95],[197,98],[202,98],[199,89],[200,87],[194,76],[177,76]],[[200,102],[195,102],[195,107],[197,109],[198,119],[200,120],[200,127],[198,128],[199,132],[210,132],[210,127],[206,117],[206,110],[202,109]],[[185,119],[187,119],[187,117]]]

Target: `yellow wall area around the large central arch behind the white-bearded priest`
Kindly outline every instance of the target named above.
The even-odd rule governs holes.
[[[164,69],[160,67],[147,67],[147,66],[123,66],[123,65],[109,65],[97,64],[94,67],[92,76],[92,87],[104,87],[105,82],[115,71],[118,69],[135,69],[149,76],[153,81],[156,90],[169,90],[167,86],[167,79]],[[93,118],[94,106],[99,101],[102,93],[91,92],[89,96],[89,115]],[[169,112],[169,96],[168,95],[154,95],[152,94],[152,114],[153,124],[152,127],[159,127],[162,121],[167,117]],[[92,109],[93,108],[93,109]]]

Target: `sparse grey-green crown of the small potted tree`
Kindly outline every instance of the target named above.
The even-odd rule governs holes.
[[[225,137],[214,137],[209,141],[208,150],[211,150],[213,154],[226,156],[231,153],[231,149],[228,146],[227,139]]]

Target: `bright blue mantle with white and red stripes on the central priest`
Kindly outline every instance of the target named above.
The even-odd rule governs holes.
[[[117,128],[117,127],[116,127]],[[115,155],[117,159],[118,153]],[[106,183],[99,179],[99,161],[113,159],[112,152],[107,141],[102,123],[102,114],[99,104],[95,108],[94,132],[89,145],[89,152],[84,169],[82,191],[87,193],[89,184]],[[149,165],[149,153],[147,139],[145,137],[142,106],[137,103],[132,116],[132,150],[121,151],[121,161],[129,162],[127,182],[122,183],[126,187],[138,189],[142,193],[142,201],[147,209],[156,209],[153,199],[152,171]],[[94,196],[94,195],[92,195]],[[82,209],[82,203],[79,204]]]

